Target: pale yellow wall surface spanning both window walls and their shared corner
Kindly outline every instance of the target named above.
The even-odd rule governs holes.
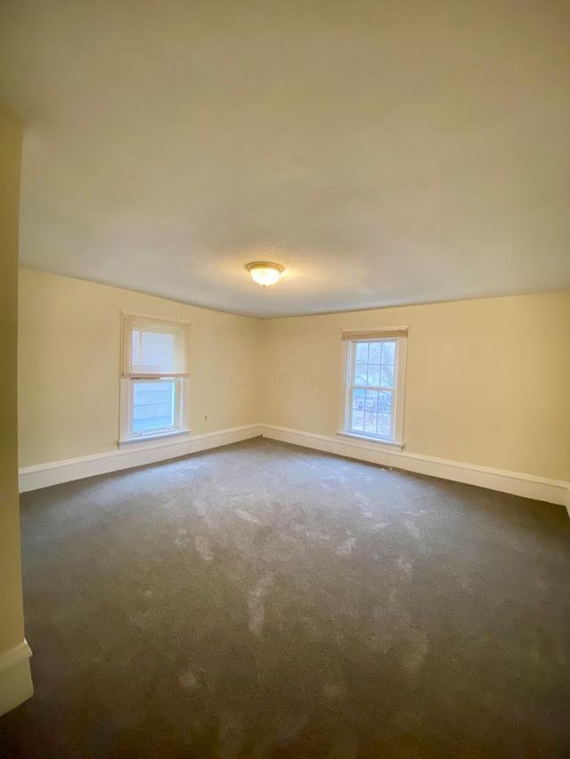
[[[335,435],[340,329],[407,325],[407,451],[570,480],[570,293],[259,320],[32,270],[20,466],[117,447],[121,310],[191,322],[194,434],[265,422]]]

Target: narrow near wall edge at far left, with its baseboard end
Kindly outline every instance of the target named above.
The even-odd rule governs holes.
[[[0,665],[24,639],[16,375],[20,155],[20,123],[0,107]],[[0,714],[30,695],[27,661],[0,668]]]

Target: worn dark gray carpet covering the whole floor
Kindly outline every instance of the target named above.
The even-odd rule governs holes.
[[[567,757],[560,506],[257,438],[21,497],[3,757]]]

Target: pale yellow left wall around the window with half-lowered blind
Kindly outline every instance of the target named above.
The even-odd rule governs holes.
[[[191,323],[192,434],[258,421],[258,319],[20,269],[20,466],[117,448],[120,311]]]

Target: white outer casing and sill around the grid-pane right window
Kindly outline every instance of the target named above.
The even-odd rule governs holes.
[[[401,328],[401,327],[400,327]],[[358,338],[343,340],[342,342],[342,378],[343,382],[340,386],[340,399],[338,404],[338,432],[341,437],[353,438],[354,442],[361,441],[366,443],[373,443],[375,446],[381,448],[387,447],[387,450],[394,450],[394,448],[402,450],[404,448],[403,443],[403,410],[405,404],[405,384],[406,384],[406,365],[408,358],[408,338],[406,337],[392,337],[384,336],[385,333],[391,333],[393,328],[387,328],[386,330],[362,330],[367,334],[374,333],[375,338],[368,337],[364,339],[364,342],[370,343],[371,339],[377,340],[395,340],[396,343],[396,382],[394,391],[392,394],[392,416],[394,437],[393,438],[381,438],[377,435],[366,435],[365,433],[352,432],[348,429],[350,420],[351,397],[350,388],[352,385],[352,372],[353,372],[353,352],[354,343],[358,342]]]

